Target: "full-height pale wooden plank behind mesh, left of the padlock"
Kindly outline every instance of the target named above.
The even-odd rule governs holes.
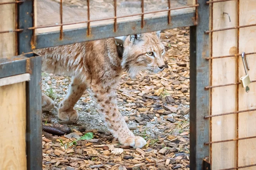
[[[213,4],[213,29],[234,27],[237,25],[236,2]],[[227,12],[230,15],[223,14]],[[213,32],[212,55],[224,56],[237,53],[237,30]],[[212,60],[212,85],[223,85],[236,82],[236,58],[219,58]],[[212,114],[233,112],[236,109],[237,86],[216,87],[212,89]],[[212,141],[236,138],[236,115],[213,117],[211,119]],[[212,170],[236,166],[236,142],[216,143],[211,146]]]

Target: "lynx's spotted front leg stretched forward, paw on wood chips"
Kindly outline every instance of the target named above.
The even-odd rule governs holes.
[[[140,136],[134,134],[128,129],[123,116],[118,111],[116,105],[116,93],[114,88],[102,87],[100,85],[91,86],[94,97],[98,102],[100,114],[105,119],[105,124],[115,138],[118,138],[122,145],[132,146],[133,148],[142,148],[146,141]]]

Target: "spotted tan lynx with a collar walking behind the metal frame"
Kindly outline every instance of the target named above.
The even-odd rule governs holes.
[[[42,55],[43,71],[72,77],[69,92],[59,104],[59,119],[78,119],[78,112],[73,107],[89,88],[107,128],[122,145],[142,148],[146,144],[142,137],[135,136],[128,129],[118,111],[115,89],[122,71],[127,71],[134,79],[140,71],[158,73],[164,70],[165,50],[160,32],[130,35],[121,42],[110,38],[38,49],[36,52]],[[42,107],[54,107],[54,102],[44,93]]]

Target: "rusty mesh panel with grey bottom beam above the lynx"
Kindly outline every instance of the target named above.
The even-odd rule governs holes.
[[[196,24],[195,0],[35,0],[35,48]]]

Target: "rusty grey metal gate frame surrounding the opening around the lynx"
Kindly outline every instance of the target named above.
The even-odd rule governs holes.
[[[26,83],[27,169],[42,170],[41,59],[31,52],[33,49],[190,26],[190,169],[202,170],[203,160],[209,156],[209,146],[204,145],[209,139],[209,121],[204,119],[209,113],[209,91],[204,90],[209,85],[209,61],[206,60],[209,56],[209,36],[205,33],[209,29],[209,6],[206,0],[195,0],[195,5],[187,6],[195,7],[195,11],[180,15],[171,15],[171,10],[178,8],[170,8],[168,0],[169,8],[164,10],[168,11],[168,15],[152,19],[144,19],[144,14],[147,13],[144,13],[142,0],[142,13],[139,14],[142,16],[141,20],[128,22],[116,22],[116,0],[114,2],[114,25],[90,27],[92,20],[89,19],[88,29],[61,29],[38,35],[35,35],[33,0],[0,3],[15,3],[18,15],[15,30],[0,31],[0,34],[17,32],[18,54],[11,59],[0,59],[0,78],[31,74],[31,80]],[[64,24],[55,26],[62,28]]]

